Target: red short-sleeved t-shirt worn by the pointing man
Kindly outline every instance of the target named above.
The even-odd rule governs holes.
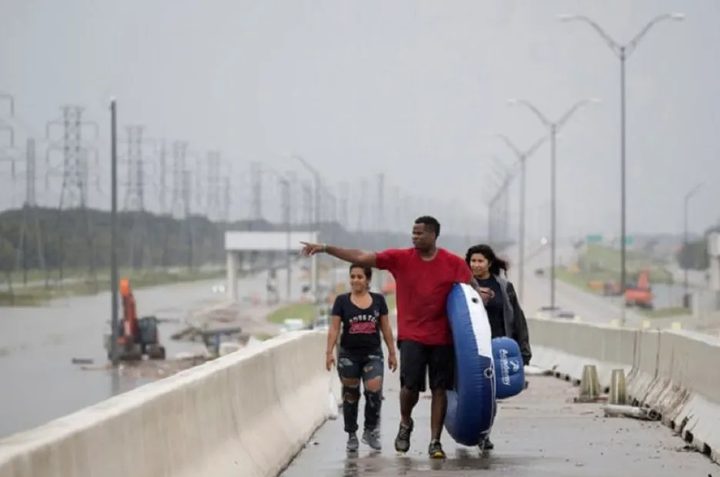
[[[415,248],[384,250],[376,257],[377,268],[395,277],[398,340],[452,344],[445,303],[454,283],[470,281],[465,261],[443,248],[432,260],[423,260]]]

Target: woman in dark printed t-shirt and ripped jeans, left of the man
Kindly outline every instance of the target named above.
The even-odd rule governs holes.
[[[348,433],[347,451],[356,452],[359,447],[356,432],[360,400],[360,380],[365,394],[365,422],[363,443],[380,450],[380,408],[382,405],[383,352],[380,342],[382,332],[388,349],[388,367],[397,369],[397,356],[392,329],[388,320],[385,298],[370,292],[372,269],[350,265],[350,293],[338,295],[332,309],[328,330],[325,366],[328,371],[335,363],[334,348],[340,335],[337,369],[342,382],[343,418]]]

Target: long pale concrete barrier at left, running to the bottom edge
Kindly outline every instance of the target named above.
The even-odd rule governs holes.
[[[277,475],[329,414],[325,339],[288,333],[0,440],[0,477]]]

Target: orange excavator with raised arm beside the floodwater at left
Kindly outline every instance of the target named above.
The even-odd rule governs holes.
[[[165,359],[165,347],[159,342],[158,320],[154,316],[138,318],[135,297],[127,278],[120,280],[120,298],[123,315],[117,329],[118,358],[122,361],[137,361],[143,356]],[[112,347],[107,346],[107,349],[108,357],[112,359]]]

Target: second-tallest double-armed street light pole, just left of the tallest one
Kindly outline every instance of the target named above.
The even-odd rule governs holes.
[[[550,308],[555,309],[555,254],[557,248],[556,240],[556,229],[557,229],[557,181],[556,181],[556,158],[555,158],[555,143],[557,139],[557,132],[561,127],[567,123],[575,112],[581,107],[589,103],[599,102],[597,99],[583,99],[576,102],[570,109],[563,114],[560,119],[551,121],[546,115],[535,107],[529,101],[524,99],[511,99],[508,100],[510,104],[519,104],[529,109],[537,118],[540,120],[550,133]]]

